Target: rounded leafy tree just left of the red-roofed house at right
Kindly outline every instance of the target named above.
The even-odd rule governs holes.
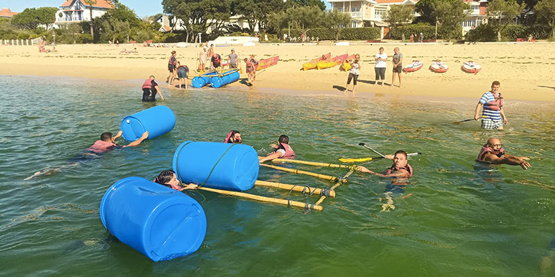
[[[470,6],[461,0],[443,0],[432,3],[432,17],[441,24],[445,39],[455,39],[462,32],[461,22],[468,17]]]

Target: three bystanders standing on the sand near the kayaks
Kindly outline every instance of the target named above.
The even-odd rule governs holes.
[[[403,54],[400,53],[399,47],[393,48],[393,52],[394,52],[393,57],[391,57],[391,62],[393,64],[393,78],[391,78],[390,86],[393,86],[395,84],[395,76],[397,76],[399,79],[399,87],[401,87],[401,73],[403,71]],[[388,56],[386,53],[384,53],[383,47],[379,48],[379,52],[375,55],[374,60],[376,62],[374,66],[374,71],[376,76],[374,84],[377,85],[378,82],[381,81],[380,84],[383,86],[385,83],[386,68],[387,68],[387,61],[388,61]],[[360,55],[357,53],[355,55],[355,60],[347,60],[347,62],[350,63],[351,69],[349,71],[349,77],[347,78],[347,84],[345,85],[344,91],[345,92],[349,91],[348,87],[352,80],[353,81],[352,89],[350,89],[350,91],[352,93],[355,93],[355,86],[357,86],[357,80],[359,79],[360,69],[361,69]]]

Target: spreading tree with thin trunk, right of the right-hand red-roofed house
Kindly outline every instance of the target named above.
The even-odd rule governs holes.
[[[524,10],[524,4],[518,4],[515,0],[491,0],[486,6],[486,17],[488,24],[497,33],[497,42],[501,41],[501,32],[513,19]]]

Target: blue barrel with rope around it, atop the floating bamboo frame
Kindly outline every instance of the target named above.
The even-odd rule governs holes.
[[[258,177],[258,154],[244,144],[185,141],[173,154],[182,183],[222,190],[248,190]]]

